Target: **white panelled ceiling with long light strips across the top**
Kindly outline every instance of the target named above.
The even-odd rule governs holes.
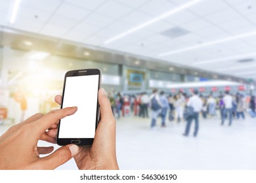
[[[16,20],[10,24],[12,1],[0,0],[0,25],[152,60],[255,78],[255,0],[202,0],[104,44],[192,1],[21,0]]]

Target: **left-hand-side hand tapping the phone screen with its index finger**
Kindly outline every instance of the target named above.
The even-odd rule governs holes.
[[[78,152],[78,146],[70,144],[49,154],[53,147],[37,147],[39,139],[55,142],[45,132],[56,129],[58,121],[76,112],[77,107],[52,110],[46,115],[35,114],[24,122],[12,126],[0,137],[0,169],[55,169],[66,163]]]

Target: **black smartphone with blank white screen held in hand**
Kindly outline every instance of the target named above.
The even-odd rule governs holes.
[[[100,70],[68,71],[64,78],[61,108],[77,106],[77,111],[58,124],[56,142],[60,146],[91,146],[99,119]]]

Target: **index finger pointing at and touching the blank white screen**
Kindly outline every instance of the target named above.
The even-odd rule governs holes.
[[[33,123],[33,127],[35,129],[34,131],[41,135],[45,132],[45,130],[49,129],[49,127],[51,127],[53,124],[56,124],[56,122],[58,122],[60,119],[70,116],[76,111],[77,107],[66,107],[52,110]]]

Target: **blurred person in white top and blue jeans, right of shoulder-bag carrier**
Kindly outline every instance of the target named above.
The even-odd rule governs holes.
[[[224,120],[226,119],[226,116],[228,114],[229,118],[229,124],[232,124],[232,103],[233,99],[232,96],[229,94],[229,91],[225,92],[225,96],[223,97],[223,103],[224,103],[224,112],[223,112],[223,118],[221,118],[221,125],[224,125]]]

